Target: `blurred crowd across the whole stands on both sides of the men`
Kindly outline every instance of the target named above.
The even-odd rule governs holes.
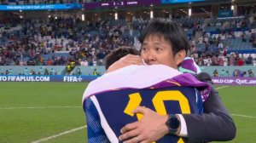
[[[75,66],[102,66],[105,56],[119,46],[139,49],[137,38],[149,21],[14,17],[7,14],[0,21],[0,66],[68,66],[72,62]],[[232,41],[247,43],[249,49],[256,46],[255,13],[231,20],[210,18],[206,22],[189,17],[174,20],[188,32],[188,56],[199,66],[256,65],[255,53],[230,52],[235,46]]]

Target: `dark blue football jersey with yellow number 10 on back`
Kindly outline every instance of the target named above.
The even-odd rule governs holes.
[[[203,112],[201,94],[190,87],[163,89],[120,89],[90,96],[84,101],[89,142],[119,142],[120,129],[139,120],[133,115],[137,106],[146,106],[161,115]],[[186,142],[166,135],[156,143]]]

